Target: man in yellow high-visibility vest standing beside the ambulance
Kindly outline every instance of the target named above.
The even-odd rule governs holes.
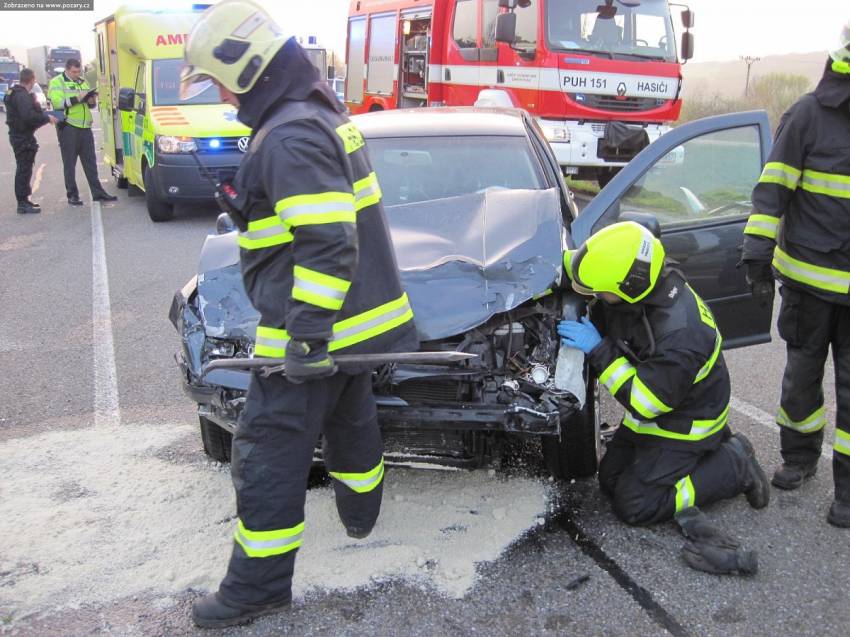
[[[94,201],[115,201],[115,195],[107,193],[97,176],[97,155],[94,150],[94,135],[91,132],[91,109],[97,105],[95,92],[81,77],[82,66],[74,58],[65,62],[65,72],[57,75],[47,89],[47,98],[57,111],[65,112],[65,120],[57,127],[59,149],[62,151],[62,165],[65,171],[65,192],[68,203],[82,206],[80,191],[77,189],[77,158],[83,165],[83,172],[89,182],[89,190]]]

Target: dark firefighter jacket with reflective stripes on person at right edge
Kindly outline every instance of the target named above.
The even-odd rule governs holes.
[[[824,78],[782,118],[753,190],[743,257],[772,261],[785,285],[850,305],[850,68],[834,64]]]

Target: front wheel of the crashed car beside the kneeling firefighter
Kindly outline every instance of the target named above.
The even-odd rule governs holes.
[[[543,461],[559,480],[595,475],[602,457],[599,382],[588,384],[587,399],[581,411],[564,402],[561,407],[561,435],[543,438]]]

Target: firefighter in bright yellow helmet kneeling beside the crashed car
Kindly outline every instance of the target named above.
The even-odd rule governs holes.
[[[755,553],[697,508],[740,493],[757,509],[770,499],[752,445],[729,430],[729,373],[711,310],[633,222],[600,230],[564,263],[573,288],[605,307],[604,338],[587,317],[562,321],[558,333],[626,408],[599,466],[617,516],[634,525],[675,518],[689,565],[755,572]]]

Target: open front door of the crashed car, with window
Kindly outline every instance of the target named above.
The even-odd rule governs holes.
[[[617,221],[657,221],[668,258],[711,306],[724,348],[770,340],[773,308],[750,294],[741,259],[750,196],[770,152],[764,111],[689,122],[638,154],[573,222],[572,241]]]

